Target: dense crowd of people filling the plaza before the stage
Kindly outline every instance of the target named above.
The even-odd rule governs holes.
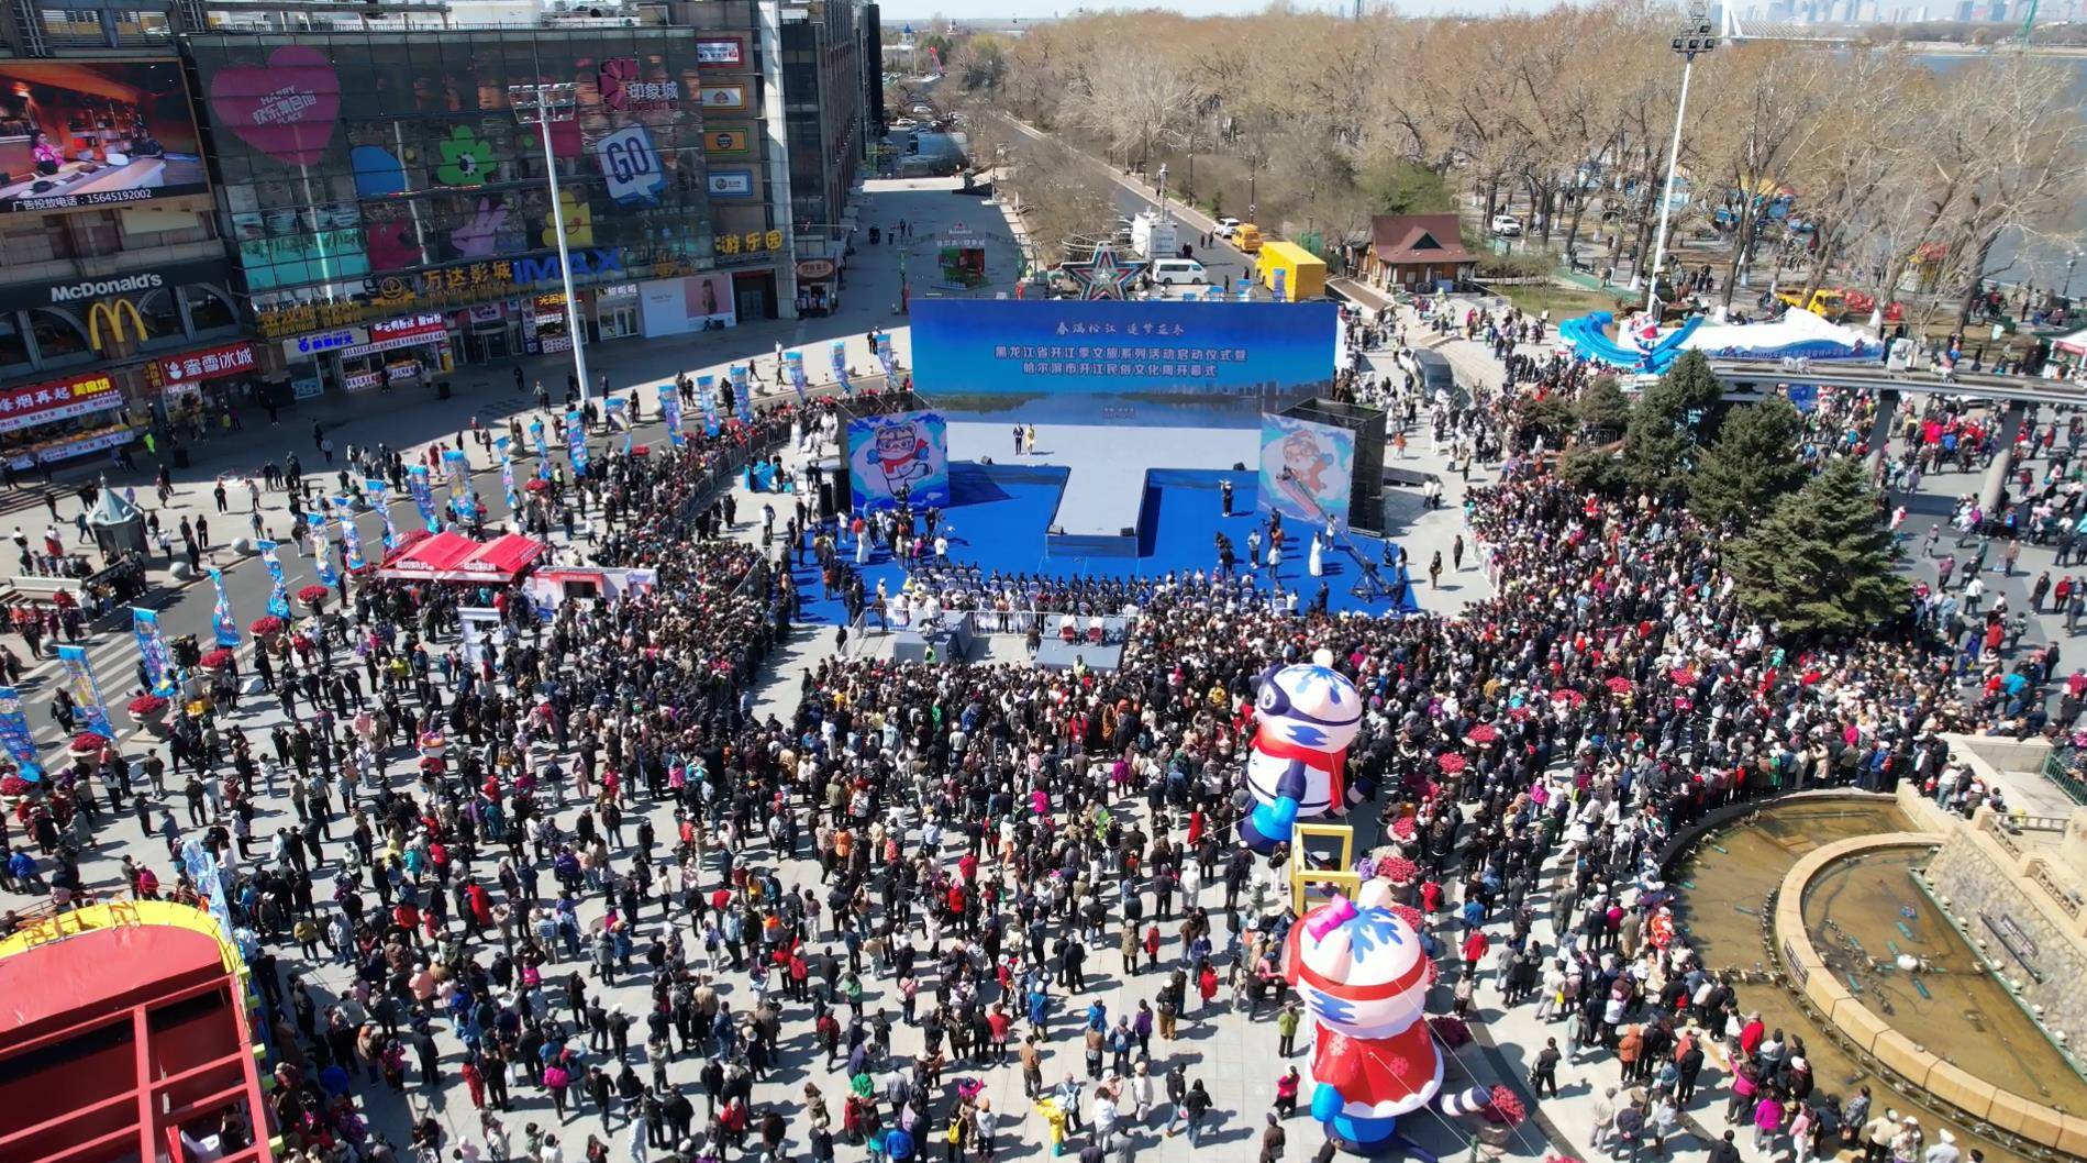
[[[1515,363],[1511,340],[1501,355],[1511,382],[1582,382]],[[1352,388],[1465,464],[1513,447],[1501,395],[1434,399],[1375,376]],[[359,589],[305,645],[250,662],[269,695],[253,702],[282,710],[273,729],[227,706],[179,729],[167,758],[111,745],[52,773],[0,835],[4,887],[86,887],[81,860],[123,827],[127,798],[167,852],[125,858],[129,892],[200,902],[211,885],[177,860],[200,837],[265,998],[269,1119],[301,1161],[826,1163],[847,1144],[910,1163],[941,1142],[950,1163],[991,1163],[1033,1117],[1031,1134],[1083,1163],[1127,1163],[1162,1109],[1192,1140],[1223,1117],[1258,1121],[1190,1077],[1183,1027],[1265,1015],[1296,1040],[1279,973],[1296,912],[1281,856],[1236,844],[1250,808],[1238,773],[1256,677],[1323,649],[1367,702],[1354,814],[1413,860],[1459,1008],[1494,975],[1509,1004],[1569,1021],[1574,1057],[1615,1054],[1624,1082],[1645,1084],[1632,1117],[1611,1102],[1607,1128],[1632,1140],[1672,1132],[1707,1042],[1730,1046],[1732,1102],[1759,1096],[1745,1109],[1757,1130],[1768,1100],[1768,1134],[1864,1123],[1860,1098],[1822,1094],[1801,1046],[1745,1021],[1734,983],[1672,940],[1665,841],[1791,787],[1922,781],[1960,810],[1997,802],[1939,735],[2008,720],[2054,679],[2054,656],[1993,662],[1997,693],[1966,697],[1951,624],[1912,610],[1874,639],[1778,641],[1734,597],[1716,530],[1509,457],[1465,495],[1494,597],[1457,616],[1298,610],[1221,562],[1121,583],[991,574],[937,551],[908,587],[939,608],[1133,612],[1121,666],[831,656],[787,714],[758,714],[806,601],[797,568],[849,618],[885,603],[843,549],[862,526],[806,495],[743,522],[720,491],[833,432],[824,409],[772,407],[553,482],[526,522],[593,509],[584,555],[655,580],[547,610],[476,595],[503,624],[474,660],[455,637],[461,595]],[[1110,1013],[1102,975],[1150,979],[1150,998]],[[639,994],[620,992],[630,981]],[[1246,1015],[1225,1019],[1221,996]],[[1563,1052],[1549,1050],[1555,1071]],[[814,1059],[839,1082],[822,1088]],[[993,1107],[983,1079],[1004,1069],[1033,1109]],[[1296,1109],[1284,1077],[1263,1163]],[[430,1102],[455,1082],[474,1115],[461,1134],[459,1105],[440,1105],[445,1121]],[[384,1092],[411,1096],[411,1142],[371,1128]]]

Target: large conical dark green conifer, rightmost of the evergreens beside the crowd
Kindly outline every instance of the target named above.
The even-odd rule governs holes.
[[[1837,457],[1732,543],[1741,599],[1791,635],[1853,635],[1905,610],[1891,572],[1882,497],[1862,461]]]

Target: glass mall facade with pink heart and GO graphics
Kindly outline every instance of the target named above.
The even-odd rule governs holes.
[[[703,79],[687,29],[192,35],[217,209],[263,336],[559,288],[543,129],[509,86],[572,84],[551,125],[578,286],[710,269]]]

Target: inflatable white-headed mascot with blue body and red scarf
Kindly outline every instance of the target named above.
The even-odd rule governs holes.
[[[1363,725],[1363,695],[1323,649],[1309,664],[1271,666],[1258,683],[1246,758],[1246,789],[1256,804],[1240,821],[1240,841],[1269,854],[1300,818],[1348,810],[1342,768]]]

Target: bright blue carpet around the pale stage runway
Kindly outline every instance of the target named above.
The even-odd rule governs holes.
[[[950,557],[975,564],[987,572],[1029,572],[1052,576],[1114,576],[1140,578],[1160,576],[1169,570],[1210,570],[1217,566],[1215,537],[1223,530],[1231,537],[1233,549],[1244,557],[1246,539],[1263,526],[1254,514],[1258,489],[1252,472],[1225,470],[1150,470],[1144,478],[1144,503],[1137,516],[1135,555],[1064,557],[1046,553],[1046,530],[1058,509],[1073,470],[1046,464],[973,464],[954,461],[950,466],[952,505],[943,512],[941,528],[950,537]],[[1233,512],[1223,516],[1219,482],[1233,480]],[[1311,530],[1290,524],[1292,551],[1286,555],[1277,578],[1286,589],[1298,589],[1300,601],[1311,601],[1323,580],[1327,606],[1332,610],[1363,610],[1371,614],[1392,612],[1388,599],[1361,601],[1348,587],[1361,578],[1361,564],[1344,551],[1325,553],[1325,574],[1313,578],[1306,570],[1304,549]],[[1367,535],[1348,539],[1354,549],[1371,562],[1382,560],[1384,541]],[[1265,553],[1267,549],[1263,549]],[[854,545],[843,545],[843,557],[854,562]],[[1263,568],[1263,574],[1267,570]],[[872,549],[862,566],[864,587],[877,589],[883,580],[889,593],[897,593],[906,580],[899,562],[885,549]],[[1388,576],[1388,574],[1386,574]],[[801,566],[795,570],[799,591],[806,595],[803,620],[814,624],[839,624],[841,603],[820,595],[818,570]],[[1398,608],[1413,612],[1411,597]]]

